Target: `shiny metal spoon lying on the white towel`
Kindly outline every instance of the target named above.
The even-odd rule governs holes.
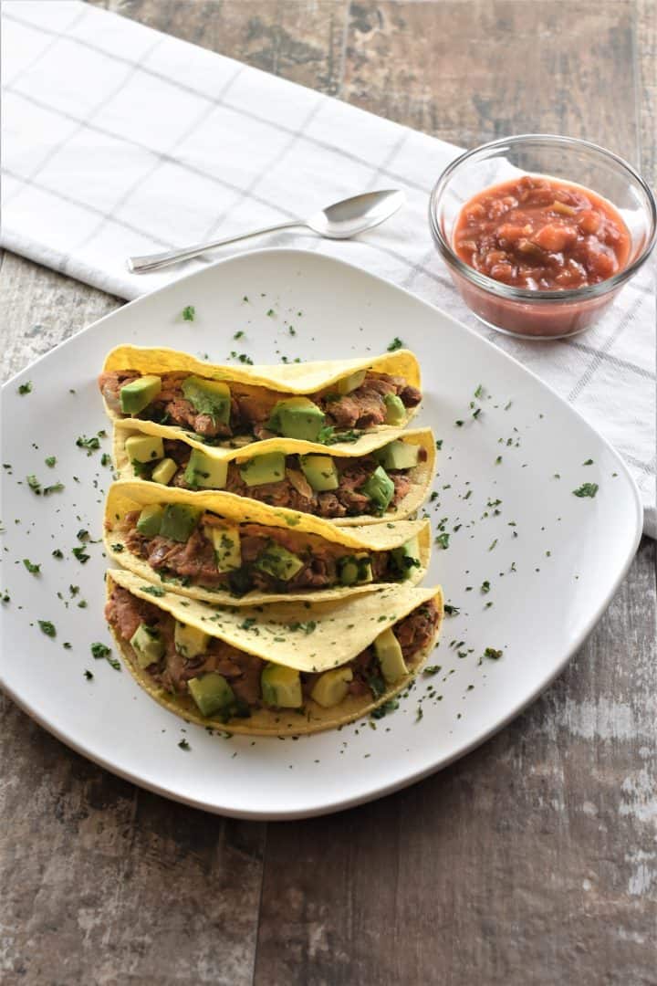
[[[191,257],[198,256],[207,249],[214,249],[215,246],[233,244],[237,240],[259,237],[263,233],[274,233],[276,230],[287,230],[291,226],[307,226],[320,237],[327,237],[329,240],[349,240],[350,237],[355,237],[385,222],[397,212],[405,200],[404,192],[394,189],[364,192],[362,195],[345,198],[342,202],[335,202],[326,209],[315,212],[309,219],[293,219],[289,223],[277,223],[276,226],[267,226],[263,230],[253,230],[251,233],[240,233],[226,240],[210,240],[205,244],[184,246],[164,253],[151,253],[150,256],[131,256],[128,260],[128,270],[132,274],[146,274],[151,270],[167,267],[171,263],[190,260]]]

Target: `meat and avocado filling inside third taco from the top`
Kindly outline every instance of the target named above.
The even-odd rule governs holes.
[[[422,564],[417,537],[389,550],[355,551],[319,534],[230,522],[183,503],[147,504],[110,529],[164,582],[235,597],[402,582]]]

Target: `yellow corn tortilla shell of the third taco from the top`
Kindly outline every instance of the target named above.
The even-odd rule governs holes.
[[[159,486],[154,483],[129,482],[119,479],[112,483],[105,501],[104,546],[107,557],[117,565],[122,565],[142,579],[157,585],[172,586],[175,592],[190,599],[205,599],[209,602],[227,603],[231,606],[247,606],[263,602],[289,601],[303,599],[320,601],[322,599],[344,599],[361,593],[371,593],[384,585],[396,583],[367,583],[361,586],[340,586],[333,589],[317,589],[292,593],[251,592],[235,597],[226,590],[213,592],[200,586],[183,586],[180,580],[166,576],[164,579],[151,568],[145,558],[133,554],[125,545],[124,531],[117,523],[132,510],[141,510],[151,503],[187,504],[197,510],[207,510],[226,518],[233,524],[263,524],[273,528],[292,529],[308,534],[318,534],[334,544],[344,544],[353,551],[387,551],[401,547],[412,537],[418,535],[421,554],[419,568],[411,569],[406,585],[415,586],[427,571],[430,555],[430,525],[425,521],[397,521],[388,524],[364,525],[358,528],[336,528],[330,521],[296,510],[283,507],[270,507],[257,500],[247,500],[232,493],[205,493],[183,490],[178,487]]]

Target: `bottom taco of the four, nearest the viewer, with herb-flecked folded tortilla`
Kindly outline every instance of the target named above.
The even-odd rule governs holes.
[[[161,705],[252,736],[332,729],[390,710],[433,647],[440,589],[235,609],[107,573],[105,616],[126,666]],[[380,714],[380,713],[379,713]]]

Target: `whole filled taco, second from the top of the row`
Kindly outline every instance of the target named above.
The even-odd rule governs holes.
[[[330,450],[286,438],[223,449],[153,421],[114,424],[114,466],[121,479],[227,490],[343,527],[409,517],[427,497],[434,463],[428,428],[379,429]]]

